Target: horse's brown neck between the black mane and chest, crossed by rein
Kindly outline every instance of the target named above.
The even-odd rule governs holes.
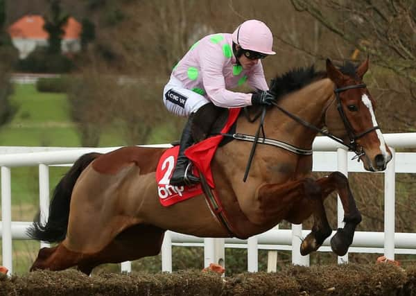
[[[324,112],[333,98],[333,82],[324,78],[282,98],[279,105],[304,121],[322,128]],[[272,108],[268,120],[276,127],[268,130],[268,137],[273,133],[279,140],[301,148],[311,148],[317,132],[297,123],[277,108]]]

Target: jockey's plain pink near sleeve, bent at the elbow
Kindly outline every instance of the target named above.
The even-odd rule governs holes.
[[[245,107],[251,105],[252,94],[231,92],[225,89],[223,67],[229,58],[216,44],[207,44],[207,49],[200,51],[202,83],[207,96],[218,107]]]

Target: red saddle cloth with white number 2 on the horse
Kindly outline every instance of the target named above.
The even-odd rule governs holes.
[[[225,123],[221,132],[225,133],[229,131],[229,128],[231,128],[239,116],[240,111],[241,108],[229,109],[228,121]],[[215,184],[210,164],[218,144],[222,140],[223,136],[218,134],[214,137],[209,137],[204,141],[200,141],[185,150],[185,155],[193,162],[193,174],[199,176],[198,171],[201,172],[211,188],[215,188]],[[177,202],[182,202],[183,200],[187,200],[203,193],[201,184],[193,186],[172,186],[169,184],[173,169],[176,166],[178,153],[179,146],[168,148],[163,153],[162,157],[160,157],[159,163],[157,164],[157,192],[159,194],[159,201],[164,207],[168,207]]]

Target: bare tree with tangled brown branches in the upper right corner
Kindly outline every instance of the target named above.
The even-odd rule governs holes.
[[[291,3],[297,11],[308,13],[355,49],[352,59],[357,58],[357,53],[363,53],[358,56],[361,59],[370,55],[373,65],[370,86],[383,102],[379,114],[385,127],[391,132],[415,131],[415,122],[410,119],[416,116],[416,2],[291,0]],[[311,53],[314,54],[320,55]],[[396,101],[398,96],[400,104]]]

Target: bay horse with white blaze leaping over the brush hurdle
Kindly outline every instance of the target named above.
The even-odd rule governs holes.
[[[88,275],[101,263],[159,254],[167,229],[245,239],[281,220],[299,224],[313,216],[311,233],[301,245],[306,255],[331,235],[323,202],[333,191],[343,204],[345,226],[331,238],[331,248],[343,256],[361,214],[345,175],[311,178],[311,147],[325,128],[321,132],[354,150],[367,171],[385,169],[392,156],[376,123],[375,102],[363,84],[368,64],[367,59],[358,67],[347,63],[338,69],[327,60],[324,72],[313,67],[290,71],[271,85],[279,100],[264,116],[254,123],[239,116],[238,134],[256,134],[263,121],[264,137],[291,149],[259,144],[246,182],[252,143],[234,140],[216,150],[211,170],[227,223],[203,194],[171,207],[160,204],[155,169],[165,148],[133,146],[83,155],[55,187],[46,225],[37,219],[28,232],[37,240],[58,243],[42,248],[31,270],[77,266]],[[256,108],[250,110],[253,114]]]

